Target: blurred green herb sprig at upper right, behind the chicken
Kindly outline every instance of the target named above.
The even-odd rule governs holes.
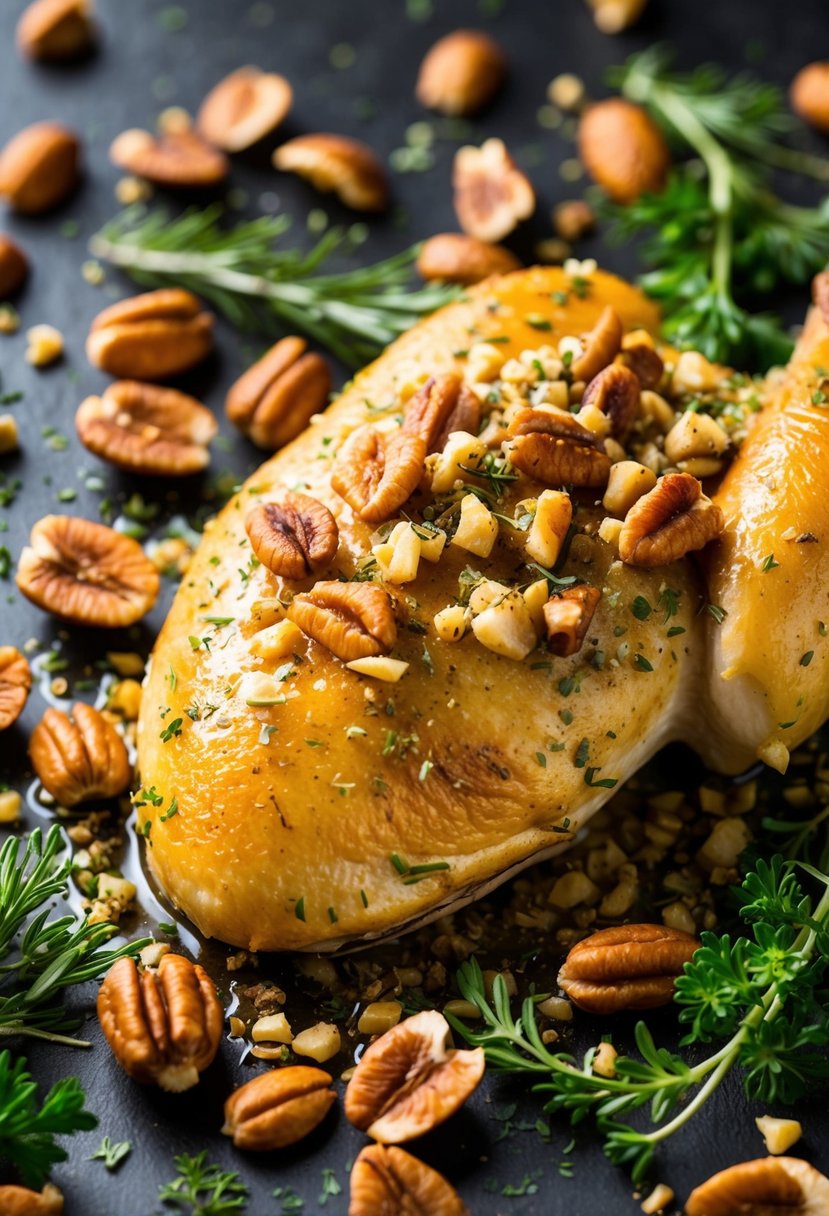
[[[751,77],[727,79],[712,66],[675,73],[665,49],[650,47],[611,79],[686,157],[661,195],[610,208],[617,238],[644,237],[652,269],[641,281],[664,308],[666,337],[741,367],[784,362],[789,337],[776,317],[748,306],[823,269],[829,202],[784,202],[769,170],[827,181],[829,161],[783,142],[794,119],[779,90]]]

